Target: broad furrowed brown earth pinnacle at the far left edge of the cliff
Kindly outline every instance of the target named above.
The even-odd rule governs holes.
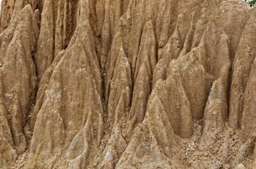
[[[10,25],[0,35],[1,151],[4,151],[0,163],[4,167],[9,166],[7,161],[13,160],[4,154],[27,149],[23,129],[35,103],[37,85],[32,54],[35,53],[38,27],[31,6],[20,10]]]

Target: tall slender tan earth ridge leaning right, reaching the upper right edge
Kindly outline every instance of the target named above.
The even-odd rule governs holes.
[[[256,27],[254,20],[256,20],[255,8],[252,8],[252,13],[248,23],[245,25],[243,35],[240,39],[236,57],[233,61],[233,76],[231,80],[230,93],[230,110],[229,110],[229,124],[234,129],[240,128],[241,118],[244,108],[244,94],[248,84],[250,69],[255,58],[255,33],[251,30]]]

